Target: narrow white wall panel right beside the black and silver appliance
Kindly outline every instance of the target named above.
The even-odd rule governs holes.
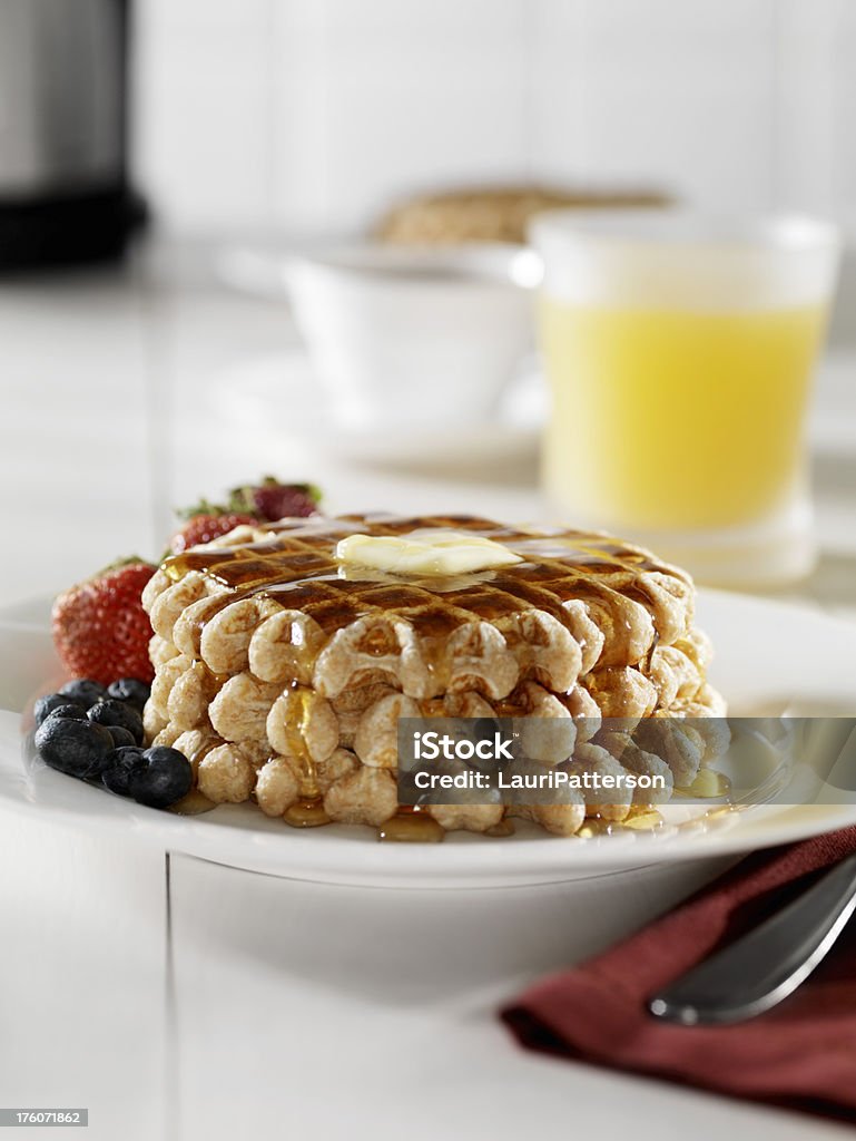
[[[248,0],[243,13],[233,0],[142,0],[136,147],[140,180],[166,225],[204,232],[267,221],[269,24],[268,0]]]

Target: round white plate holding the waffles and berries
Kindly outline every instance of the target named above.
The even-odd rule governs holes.
[[[856,713],[856,630],[776,602],[702,591],[699,623],[717,647],[712,681],[735,710],[790,704],[801,713]],[[164,849],[271,875],[328,883],[419,888],[562,882],[662,860],[737,855],[856,823],[851,804],[765,804],[665,832],[562,840],[535,830],[512,839],[465,833],[439,845],[378,844],[368,828],[309,832],[250,806],[199,817],[140,808],[43,766],[27,771],[19,710],[56,680],[44,607],[0,615],[0,798],[87,831],[109,828]]]

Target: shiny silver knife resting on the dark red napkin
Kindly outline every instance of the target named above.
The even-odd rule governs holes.
[[[793,903],[654,995],[654,1018],[741,1022],[771,1010],[814,971],[856,909],[856,855]]]

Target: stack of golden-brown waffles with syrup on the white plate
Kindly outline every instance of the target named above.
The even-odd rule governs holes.
[[[433,529],[491,539],[523,561],[419,577],[335,558],[350,534]],[[147,738],[181,750],[213,802],[252,799],[292,824],[505,831],[499,803],[399,809],[401,717],[554,719],[541,736],[555,738],[543,746],[555,755],[537,760],[565,759],[572,726],[582,763],[667,774],[669,791],[718,755],[717,734],[687,725],[665,758],[628,734],[647,718],[724,713],[706,681],[710,646],[693,626],[693,599],[684,572],[587,532],[381,515],[238,527],[168,559],[146,588]],[[606,731],[602,719],[618,720]],[[620,820],[635,807],[579,796],[515,812],[571,834],[587,814]]]

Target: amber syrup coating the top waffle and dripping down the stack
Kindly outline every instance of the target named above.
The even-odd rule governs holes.
[[[537,607],[568,625],[565,601],[584,599],[610,607],[619,596],[628,597],[633,591],[653,612],[657,624],[657,602],[646,593],[643,575],[676,574],[644,551],[600,535],[574,531],[533,535],[472,516],[357,515],[282,520],[261,529],[269,535],[261,542],[190,550],[162,564],[162,570],[173,582],[196,572],[226,588],[209,600],[198,616],[194,631],[197,645],[206,624],[227,606],[263,597],[307,614],[328,638],[366,614],[396,612],[413,626],[429,669],[437,671],[449,636],[473,618],[496,622]],[[401,535],[426,529],[458,529],[492,539],[524,561],[497,570],[435,578],[343,570],[335,559],[335,545],[347,535]],[[377,653],[384,653],[384,647],[378,646]],[[207,677],[213,691],[227,680],[211,671]],[[303,698],[295,727],[295,738],[301,743],[295,748],[302,769],[301,799],[286,811],[285,819],[295,827],[312,827],[327,823],[328,817],[304,744],[310,710],[308,695]],[[194,758],[197,762],[201,759]],[[500,822],[490,831],[505,835],[506,830],[513,831],[511,822]],[[438,841],[442,835],[442,827],[431,816],[405,809],[378,830],[380,839],[385,841]]]

